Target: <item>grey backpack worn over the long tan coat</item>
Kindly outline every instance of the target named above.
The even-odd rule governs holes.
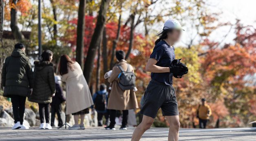
[[[117,67],[121,70],[120,74],[118,75],[119,87],[123,91],[133,89],[135,87],[136,76],[133,72],[129,72],[130,64],[127,64],[126,72],[121,65],[117,65]]]

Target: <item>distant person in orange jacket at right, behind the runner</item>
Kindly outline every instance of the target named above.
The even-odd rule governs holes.
[[[205,98],[202,98],[202,104],[197,109],[197,117],[199,118],[199,128],[206,128],[207,121],[212,115],[212,110],[207,104]]]

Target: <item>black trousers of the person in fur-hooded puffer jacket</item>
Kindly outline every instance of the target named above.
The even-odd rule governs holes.
[[[41,124],[46,121],[49,124],[50,120],[50,103],[38,103],[39,106],[39,117]],[[44,120],[45,118],[45,120]]]

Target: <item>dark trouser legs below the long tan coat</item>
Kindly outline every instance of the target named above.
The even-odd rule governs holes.
[[[115,115],[117,114],[116,110],[109,110],[110,113],[110,127],[115,126]],[[123,110],[123,120],[122,120],[122,127],[126,127],[128,120],[128,110]]]

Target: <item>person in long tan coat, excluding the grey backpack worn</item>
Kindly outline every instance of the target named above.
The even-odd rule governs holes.
[[[125,53],[122,50],[116,52],[117,65],[121,65],[124,70],[127,70],[128,64],[126,60],[124,60]],[[138,108],[138,102],[135,95],[135,91],[133,89],[123,91],[118,86],[118,75],[121,70],[115,65],[113,67],[113,71],[108,78],[108,82],[112,84],[111,91],[108,99],[108,109],[110,110],[110,125],[106,127],[106,130],[115,130],[115,115],[117,110],[123,111],[123,121],[120,130],[127,130],[126,124],[128,120],[128,110]],[[133,67],[130,65],[129,72],[134,72]]]

